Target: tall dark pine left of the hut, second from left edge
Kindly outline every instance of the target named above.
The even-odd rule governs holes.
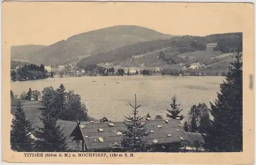
[[[62,133],[63,128],[57,125],[58,108],[56,108],[56,91],[52,87],[43,90],[42,102],[45,108],[41,111],[39,119],[42,121],[43,127],[38,127],[37,134],[42,141],[36,142],[39,151],[66,151],[66,137]]]

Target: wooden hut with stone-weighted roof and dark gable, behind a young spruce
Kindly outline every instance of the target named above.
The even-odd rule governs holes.
[[[126,121],[124,123],[128,123]],[[82,123],[77,122],[70,137],[72,141],[80,142],[82,151],[106,152],[121,151],[120,142],[122,141],[122,132],[126,130],[123,122],[104,122],[104,123]],[[188,137],[184,131],[180,120],[149,120],[141,121],[146,123],[148,143],[164,146],[180,142],[184,145],[189,144]]]

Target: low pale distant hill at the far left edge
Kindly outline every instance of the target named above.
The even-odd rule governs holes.
[[[31,58],[31,52],[45,48],[45,45],[20,45],[11,47],[11,59],[16,61],[26,61]]]

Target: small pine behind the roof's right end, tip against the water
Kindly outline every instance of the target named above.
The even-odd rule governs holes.
[[[180,118],[180,120],[182,120],[184,118],[184,116],[179,115],[180,112],[182,111],[182,109],[180,108],[180,104],[177,104],[177,100],[178,99],[174,95],[174,97],[172,97],[172,102],[170,103],[170,107],[172,109],[171,110],[167,109],[166,117],[170,118],[170,119]]]

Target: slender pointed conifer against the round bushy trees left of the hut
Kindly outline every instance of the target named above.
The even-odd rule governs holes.
[[[59,118],[63,119],[66,116],[65,108],[66,108],[66,88],[63,84],[60,84],[59,88],[56,89],[56,108],[59,114]]]

